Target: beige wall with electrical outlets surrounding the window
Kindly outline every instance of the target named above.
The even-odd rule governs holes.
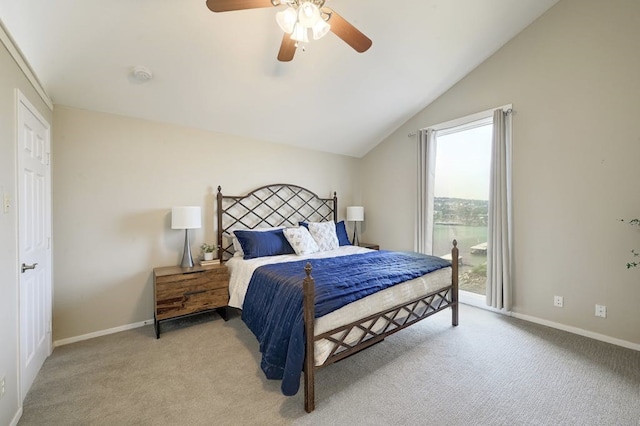
[[[640,232],[618,221],[640,216],[639,23],[635,0],[558,3],[365,157],[364,238],[413,248],[410,132],[512,103],[514,312],[640,344]]]

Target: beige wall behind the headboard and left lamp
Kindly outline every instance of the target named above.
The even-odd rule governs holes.
[[[152,269],[177,265],[172,206],[197,205],[194,256],[215,242],[214,196],[294,183],[351,202],[354,158],[56,105],[54,340],[153,318]]]

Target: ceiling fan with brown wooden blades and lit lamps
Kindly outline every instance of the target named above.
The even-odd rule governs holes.
[[[282,62],[292,60],[298,46],[304,48],[309,33],[318,40],[331,31],[357,52],[367,51],[372,41],[324,4],[325,0],[207,0],[212,12],[286,6],[276,14],[276,21],[284,31],[278,52],[278,60]]]

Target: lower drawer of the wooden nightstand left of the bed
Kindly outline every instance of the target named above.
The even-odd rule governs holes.
[[[156,302],[158,320],[219,308],[226,306],[229,302],[229,292],[226,288],[212,290],[196,286],[181,293],[173,290],[158,298]]]

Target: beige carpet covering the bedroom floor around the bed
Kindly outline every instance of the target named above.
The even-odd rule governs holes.
[[[640,425],[640,352],[464,305],[450,318],[320,370],[311,414],[264,378],[238,315],[74,343],[19,425]]]

